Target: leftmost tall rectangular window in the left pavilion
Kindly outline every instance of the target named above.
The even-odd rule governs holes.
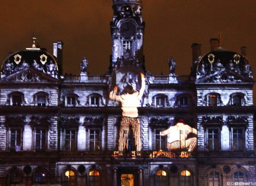
[[[22,149],[21,146],[21,129],[10,130],[10,151],[18,152]]]

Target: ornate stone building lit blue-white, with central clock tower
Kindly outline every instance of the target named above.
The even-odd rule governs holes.
[[[191,74],[145,70],[141,0],[113,0],[112,56],[106,74],[62,75],[61,41],[51,55],[33,45],[3,62],[0,79],[0,185],[2,186],[225,186],[256,183],[253,74],[245,55],[220,47],[201,56],[192,45]],[[218,42],[219,41],[219,42]],[[79,64],[78,64],[79,65]],[[142,150],[132,130],[118,152],[122,109],[109,99],[121,68],[145,74],[140,106]],[[130,80],[130,79],[128,79]],[[179,121],[179,146],[170,147]],[[163,131],[168,131],[163,135]],[[194,134],[195,134],[194,133]],[[176,133],[177,134],[177,133]],[[184,146],[182,145],[184,143]]]

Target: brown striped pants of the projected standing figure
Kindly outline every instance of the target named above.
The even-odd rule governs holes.
[[[128,149],[128,146],[126,144],[126,139],[128,136],[128,131],[131,126],[131,129],[133,131],[133,139],[136,146],[136,151],[141,150],[141,139],[140,139],[140,123],[137,117],[126,117],[123,116],[121,120],[121,126],[119,130],[119,144],[118,144],[118,150],[123,151]]]

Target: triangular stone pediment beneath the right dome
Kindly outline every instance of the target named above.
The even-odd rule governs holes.
[[[195,83],[254,83],[254,80],[224,68],[206,76],[197,77]]]

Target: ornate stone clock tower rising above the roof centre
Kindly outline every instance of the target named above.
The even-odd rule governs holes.
[[[132,55],[144,67],[143,36],[145,23],[142,21],[142,0],[113,0],[111,21],[112,58],[110,69],[118,59]]]

